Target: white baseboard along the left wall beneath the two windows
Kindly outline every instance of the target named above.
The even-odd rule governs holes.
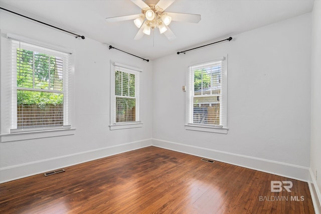
[[[145,139],[121,145],[75,153],[35,162],[14,165],[0,169],[0,183],[16,180],[31,175],[52,171],[58,168],[68,167],[79,163],[96,160],[99,158],[123,153],[147,146],[151,146],[152,139]]]

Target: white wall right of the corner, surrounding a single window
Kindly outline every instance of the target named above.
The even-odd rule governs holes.
[[[276,167],[264,169],[238,160],[249,157],[255,159],[252,162],[264,159],[294,165],[306,174],[292,176],[306,180],[310,161],[311,15],[231,36],[231,42],[154,60],[153,142],[177,150],[189,147],[190,153],[198,155],[202,152],[195,151],[202,148],[212,152],[210,158],[219,160],[216,155],[235,154],[236,159],[222,158],[288,176]],[[228,134],[185,130],[186,95],[182,86],[186,85],[188,66],[225,54]]]

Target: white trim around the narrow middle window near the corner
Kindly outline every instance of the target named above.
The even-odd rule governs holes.
[[[115,67],[121,67],[123,69],[126,69],[127,73],[129,74],[134,74],[135,76],[138,75],[138,79],[137,79],[137,83],[138,86],[135,85],[135,91],[138,93],[135,93],[135,97],[136,97],[136,106],[135,106],[135,110],[136,110],[136,121],[130,121],[130,122],[115,122],[115,105],[116,105],[116,95],[115,95]],[[109,123],[109,129],[110,130],[118,130],[118,129],[128,129],[128,128],[139,128],[142,127],[143,123],[140,121],[140,73],[142,72],[141,69],[139,68],[135,68],[132,66],[128,66],[128,65],[123,65],[120,63],[116,63],[116,62],[110,62],[110,123]],[[135,77],[136,78],[136,77]],[[138,90],[137,90],[138,89]]]

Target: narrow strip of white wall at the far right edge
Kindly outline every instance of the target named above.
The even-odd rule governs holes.
[[[311,178],[321,211],[321,2],[315,1],[312,12],[311,74]],[[317,171],[317,173],[316,173]],[[318,177],[318,178],[317,178]]]

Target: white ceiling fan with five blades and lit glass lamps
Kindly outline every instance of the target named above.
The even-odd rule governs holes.
[[[165,34],[170,40],[176,38],[175,34],[168,27],[172,21],[198,23],[201,15],[198,14],[182,14],[170,13],[165,10],[175,2],[175,0],[159,0],[157,4],[147,5],[142,0],[131,0],[135,5],[141,8],[141,14],[106,18],[107,22],[120,22],[126,20],[134,20],[134,24],[139,28],[134,40],[141,39],[144,34],[150,35],[150,31],[155,28],[159,29],[159,33]]]

